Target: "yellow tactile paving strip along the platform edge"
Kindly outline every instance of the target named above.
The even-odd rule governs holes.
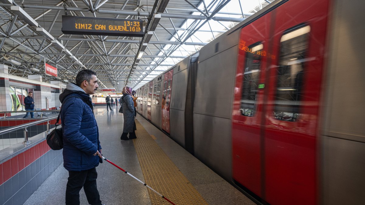
[[[137,139],[133,140],[145,183],[174,204],[208,204],[177,169],[145,128],[135,120]],[[151,204],[170,204],[148,189]]]

